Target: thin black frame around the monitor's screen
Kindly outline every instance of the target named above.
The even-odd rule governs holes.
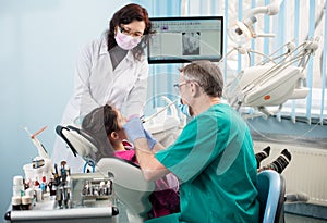
[[[223,16],[222,15],[215,15],[215,16],[180,16],[180,17],[149,17],[150,22],[154,21],[191,21],[191,20],[218,20],[221,21],[221,32],[220,32],[220,40],[221,40],[221,46],[220,46],[220,58],[218,59],[202,59],[202,58],[196,58],[196,59],[183,59],[181,57],[177,57],[175,59],[156,59],[154,60],[150,57],[150,39],[147,42],[147,61],[149,64],[157,64],[157,63],[190,63],[195,60],[209,60],[211,62],[219,62],[222,59],[222,51],[223,51]],[[153,34],[156,35],[156,34]],[[150,37],[152,38],[152,37]]]

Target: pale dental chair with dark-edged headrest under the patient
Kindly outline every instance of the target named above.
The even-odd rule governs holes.
[[[56,132],[75,156],[82,156],[89,165],[94,164],[95,172],[112,178],[113,195],[126,209],[129,222],[142,223],[148,219],[147,213],[152,210],[148,196],[155,190],[155,183],[144,179],[140,166],[114,157],[102,158],[95,163],[92,153],[97,148],[89,135],[71,125],[59,125]]]

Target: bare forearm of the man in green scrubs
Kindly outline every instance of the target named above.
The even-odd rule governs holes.
[[[147,146],[146,138],[137,138],[134,146],[137,161],[146,181],[154,181],[169,173],[169,170],[155,158],[155,152],[164,149],[160,144],[156,144],[152,151]]]

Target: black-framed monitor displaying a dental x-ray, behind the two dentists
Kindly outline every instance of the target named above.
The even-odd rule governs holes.
[[[223,49],[223,17],[152,17],[148,63],[218,62]]]

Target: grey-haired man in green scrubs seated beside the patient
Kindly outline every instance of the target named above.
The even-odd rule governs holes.
[[[242,117],[220,101],[220,70],[209,61],[195,61],[180,71],[178,87],[193,119],[173,145],[164,148],[140,119],[123,126],[146,179],[171,172],[181,183],[181,212],[149,222],[258,222],[252,138]]]

